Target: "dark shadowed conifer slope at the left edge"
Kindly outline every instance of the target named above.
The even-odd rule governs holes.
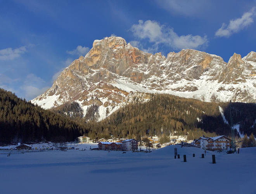
[[[86,132],[85,122],[44,110],[0,89],[0,143],[73,141]]]

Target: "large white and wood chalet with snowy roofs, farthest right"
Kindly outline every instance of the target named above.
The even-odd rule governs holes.
[[[199,137],[192,144],[201,149],[221,150],[228,149],[231,146],[231,139],[227,136]]]

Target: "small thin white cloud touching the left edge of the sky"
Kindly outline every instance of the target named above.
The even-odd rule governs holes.
[[[5,48],[0,50],[0,60],[13,60],[14,58],[18,58],[21,54],[27,52],[26,46],[21,46],[19,48]]]

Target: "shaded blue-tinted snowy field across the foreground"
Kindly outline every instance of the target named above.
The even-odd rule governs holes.
[[[180,159],[174,159],[174,148]],[[126,151],[0,150],[1,194],[256,193],[256,148],[239,154],[168,146],[151,153]],[[195,158],[192,154],[195,153]],[[187,162],[183,162],[183,155]]]

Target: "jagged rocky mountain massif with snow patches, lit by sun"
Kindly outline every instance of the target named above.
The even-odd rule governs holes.
[[[138,93],[138,92],[140,93]],[[143,93],[142,93],[143,92]],[[84,115],[92,105],[101,120],[144,93],[169,93],[202,101],[256,102],[256,53],[228,63],[197,50],[144,53],[121,37],[95,40],[85,57],[74,60],[52,88],[32,100],[43,108],[77,101]]]

